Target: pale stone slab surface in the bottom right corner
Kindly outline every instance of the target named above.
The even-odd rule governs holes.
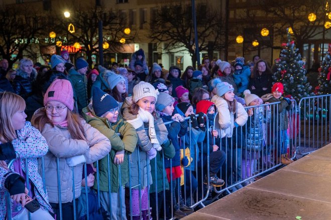
[[[331,219],[331,144],[183,219]]]

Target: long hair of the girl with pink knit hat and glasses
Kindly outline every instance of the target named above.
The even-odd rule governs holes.
[[[86,141],[84,127],[82,125],[82,119],[80,116],[68,110],[67,121],[68,131],[71,137],[74,139]],[[34,113],[31,119],[31,123],[40,131],[44,129],[46,124],[50,124],[52,127],[54,127],[53,122],[46,115],[45,108],[41,108]]]

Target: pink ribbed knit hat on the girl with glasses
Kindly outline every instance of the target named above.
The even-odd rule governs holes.
[[[74,91],[69,80],[54,80],[44,96],[44,106],[49,101],[58,101],[66,105],[71,111],[74,109]]]

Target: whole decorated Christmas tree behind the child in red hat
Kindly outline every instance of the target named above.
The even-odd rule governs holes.
[[[281,46],[283,49],[275,62],[277,72],[273,74],[273,80],[281,82],[284,85],[284,95],[293,96],[298,103],[301,98],[314,94],[310,93],[311,86],[307,83],[304,62],[289,33],[287,43],[282,43]]]

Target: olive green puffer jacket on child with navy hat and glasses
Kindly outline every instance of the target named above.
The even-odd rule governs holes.
[[[137,133],[131,124],[124,121],[118,115],[117,122],[109,123],[106,118],[97,117],[89,112],[88,108],[83,109],[84,119],[92,127],[105,135],[111,143],[109,152],[109,170],[111,192],[118,192],[120,185],[125,185],[129,179],[128,155],[131,154],[137,145]],[[117,151],[124,150],[124,160],[120,165],[121,183],[119,182],[119,165],[114,164],[114,157]],[[97,179],[94,181],[94,188],[97,189]],[[99,160],[99,189],[109,191],[108,188],[108,158],[107,156]]]

